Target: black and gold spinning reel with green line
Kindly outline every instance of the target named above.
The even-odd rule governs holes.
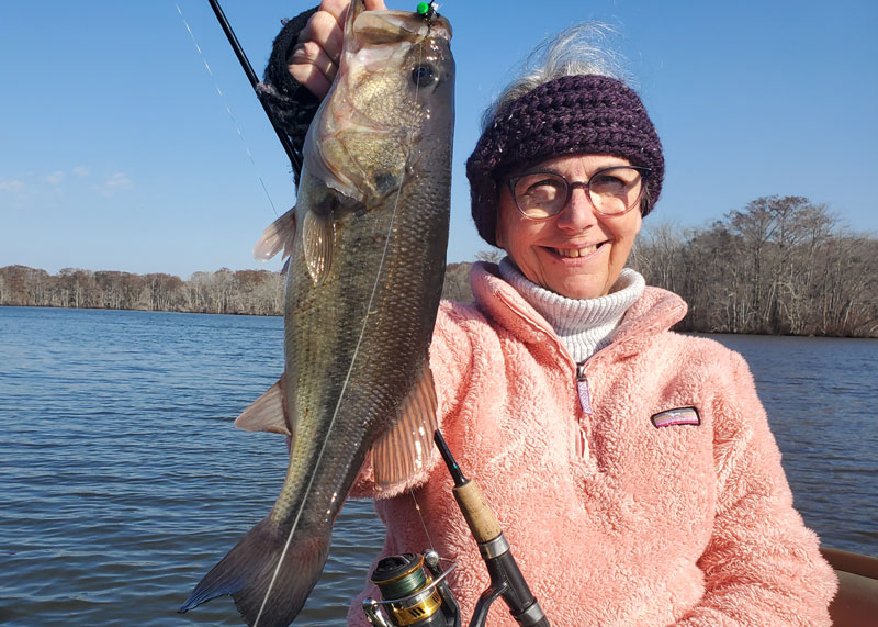
[[[436,551],[381,560],[371,580],[382,601],[365,598],[363,612],[375,627],[460,627],[460,607],[451,595]]]

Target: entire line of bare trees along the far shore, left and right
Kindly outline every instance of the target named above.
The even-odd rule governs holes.
[[[759,198],[706,227],[649,227],[631,265],[689,303],[679,331],[878,337],[878,239],[847,232],[806,198]],[[469,268],[448,266],[444,298],[472,299]],[[0,305],[281,315],[283,284],[268,270],[222,268],[183,281],[7,266]]]

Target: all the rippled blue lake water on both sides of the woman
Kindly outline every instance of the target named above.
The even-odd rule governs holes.
[[[270,510],[283,438],[234,417],[282,369],[280,318],[0,307],[0,623],[239,624],[192,586]],[[796,505],[878,547],[878,342],[713,336],[750,361]],[[346,505],[296,624],[340,625],[383,527]]]

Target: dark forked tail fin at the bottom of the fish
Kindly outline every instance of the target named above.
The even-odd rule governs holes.
[[[320,576],[331,533],[331,526],[320,536],[296,533],[278,568],[286,533],[264,518],[204,575],[178,612],[230,594],[248,625],[289,625]]]

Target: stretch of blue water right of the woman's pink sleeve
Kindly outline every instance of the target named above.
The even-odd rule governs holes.
[[[828,546],[878,553],[878,342],[711,337],[750,362],[808,526]]]

